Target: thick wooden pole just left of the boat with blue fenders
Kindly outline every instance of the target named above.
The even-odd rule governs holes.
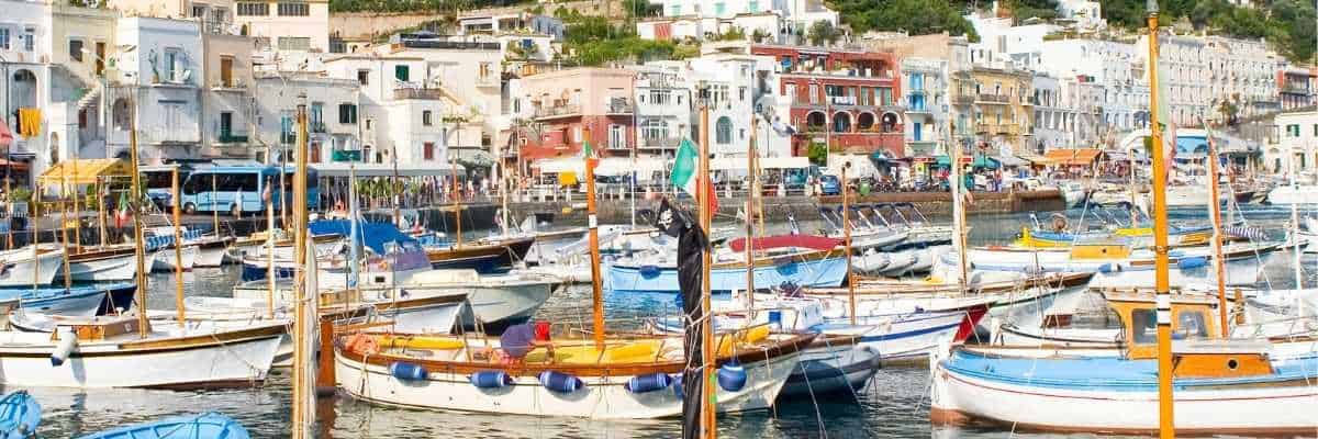
[[[311,352],[307,351],[307,340],[311,336],[311,319],[307,318],[308,306],[314,308],[315,305],[308,305],[318,295],[318,291],[308,291],[303,282],[315,283],[315,258],[314,252],[307,252],[307,96],[301,94],[298,96],[298,144],[294,156],[297,157],[297,170],[293,177],[293,243],[295,261],[302,261],[307,264],[301,270],[297,272],[297,278],[294,279],[294,318],[293,318],[293,341],[294,341],[294,368],[293,368],[293,438],[312,438],[315,432],[312,431],[312,423],[315,422],[315,393],[307,386],[312,382],[310,378],[310,361]],[[394,153],[397,160],[397,152]],[[397,204],[395,204],[397,206]],[[308,279],[308,277],[311,277]],[[326,355],[331,355],[326,352]]]

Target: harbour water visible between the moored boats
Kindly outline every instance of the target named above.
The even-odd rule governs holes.
[[[1176,211],[1172,221],[1205,223],[1205,210]],[[1079,211],[1069,212],[1078,216]],[[1242,210],[1251,227],[1280,239],[1290,212],[1281,207],[1252,206]],[[1044,214],[1039,215],[1045,219]],[[1090,218],[1089,220],[1097,220]],[[971,216],[971,244],[1006,244],[1029,220],[1028,214]],[[803,223],[803,231],[818,224]],[[786,224],[772,228],[786,231]],[[1290,253],[1275,257],[1260,286],[1290,287]],[[1304,258],[1305,273],[1318,261]],[[239,281],[237,266],[196,269],[185,274],[190,295],[228,295]],[[1306,281],[1309,282],[1309,281]],[[1306,283],[1310,285],[1311,283]],[[610,295],[610,319],[635,320],[673,310],[672,297]],[[150,277],[150,307],[174,306],[174,276]],[[589,322],[589,287],[555,293],[538,318],[555,322]],[[587,312],[587,314],[583,314]],[[206,365],[196,365],[204,368]],[[779,403],[771,411],[720,417],[724,438],[1057,438],[1011,431],[1010,426],[977,426],[931,430],[928,414],[929,373],[924,365],[887,366],[854,394],[828,394]],[[5,393],[17,390],[4,389]],[[29,389],[45,409],[40,431],[45,438],[70,438],[109,427],[179,413],[221,411],[246,426],[253,438],[289,435],[289,372],[275,370],[269,381],[232,390],[75,390]],[[585,421],[563,418],[486,415],[469,413],[394,409],[355,401],[345,395],[322,398],[318,407],[320,438],[673,438],[675,419]],[[1091,436],[1091,435],[1079,435]]]

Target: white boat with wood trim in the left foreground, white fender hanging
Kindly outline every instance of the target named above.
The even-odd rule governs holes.
[[[0,331],[0,384],[54,388],[245,386],[265,380],[282,324],[138,336],[134,316],[58,324],[51,334]],[[51,366],[53,359],[55,365]],[[206,368],[196,365],[204,364]]]

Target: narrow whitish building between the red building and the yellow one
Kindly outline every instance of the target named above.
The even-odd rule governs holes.
[[[946,152],[944,144],[950,116],[948,74],[946,59],[902,59],[908,157],[932,157]]]

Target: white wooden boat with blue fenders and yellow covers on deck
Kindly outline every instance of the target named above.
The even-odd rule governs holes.
[[[717,364],[709,365],[729,376],[718,386],[718,411],[772,405],[813,339],[767,328],[720,336]],[[672,385],[687,364],[680,337],[609,339],[604,349],[590,340],[556,341],[552,360],[535,351],[517,366],[478,359],[496,347],[496,337],[344,332],[335,343],[335,376],[355,398],[414,409],[592,419],[681,414]]]

